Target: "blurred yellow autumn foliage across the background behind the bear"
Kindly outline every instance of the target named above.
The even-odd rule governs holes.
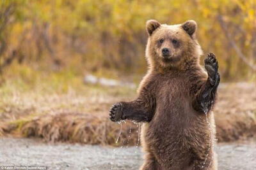
[[[0,71],[14,59],[43,69],[144,73],[145,22],[193,19],[225,80],[250,78],[256,60],[255,0],[1,1]]]

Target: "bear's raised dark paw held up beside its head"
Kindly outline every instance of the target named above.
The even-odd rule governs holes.
[[[218,77],[218,61],[213,53],[209,53],[205,58],[204,63],[210,83],[212,86],[214,86],[216,78]]]

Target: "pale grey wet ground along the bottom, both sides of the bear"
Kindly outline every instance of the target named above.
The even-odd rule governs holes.
[[[1,138],[0,167],[37,165],[49,169],[138,169],[142,162],[140,149]],[[256,143],[221,143],[216,151],[220,170],[256,169]]]

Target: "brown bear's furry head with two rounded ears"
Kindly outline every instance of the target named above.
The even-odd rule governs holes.
[[[202,55],[195,37],[196,22],[193,20],[177,25],[148,20],[146,29],[148,33],[146,56],[152,67],[182,68],[189,60],[198,62]]]

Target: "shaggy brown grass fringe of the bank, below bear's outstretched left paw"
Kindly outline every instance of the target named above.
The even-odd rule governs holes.
[[[30,120],[3,124],[4,134],[16,137],[38,137],[47,142],[68,141],[72,143],[100,145],[136,145],[138,124],[130,121],[115,124],[102,115],[84,113],[47,114]],[[117,136],[120,134],[118,142]]]

